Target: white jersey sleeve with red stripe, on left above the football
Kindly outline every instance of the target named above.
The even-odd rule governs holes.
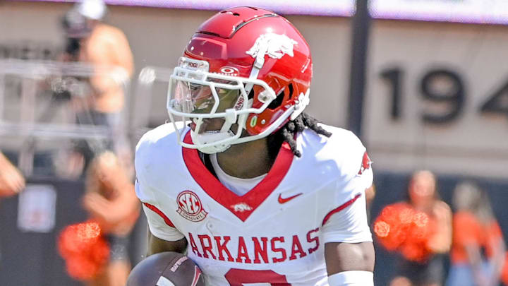
[[[162,208],[159,207],[155,191],[148,184],[149,180],[146,178],[144,164],[145,150],[143,150],[143,148],[145,147],[146,146],[143,146],[143,143],[140,142],[136,148],[134,162],[136,171],[135,193],[143,203],[143,211],[145,212],[150,232],[152,232],[155,237],[168,242],[183,239],[184,235],[176,229],[173,222],[164,214]]]

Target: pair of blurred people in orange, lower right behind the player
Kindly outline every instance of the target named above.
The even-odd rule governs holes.
[[[415,172],[406,200],[386,205],[373,230],[397,257],[390,286],[508,285],[500,225],[487,193],[473,181],[457,184],[450,208],[435,175]]]

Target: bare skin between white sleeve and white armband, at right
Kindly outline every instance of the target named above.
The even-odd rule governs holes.
[[[325,244],[325,261],[328,275],[343,271],[374,271],[375,253],[372,242]]]

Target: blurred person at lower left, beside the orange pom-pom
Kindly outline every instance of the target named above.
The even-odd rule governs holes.
[[[90,286],[123,286],[131,263],[128,236],[139,216],[134,185],[114,153],[95,157],[87,171],[83,206],[109,244],[109,261],[87,282]]]

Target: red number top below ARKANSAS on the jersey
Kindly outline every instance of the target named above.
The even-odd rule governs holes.
[[[272,286],[291,286],[286,275],[280,275],[272,270],[245,270],[231,268],[224,275],[231,286],[243,286],[247,283],[267,283]]]

